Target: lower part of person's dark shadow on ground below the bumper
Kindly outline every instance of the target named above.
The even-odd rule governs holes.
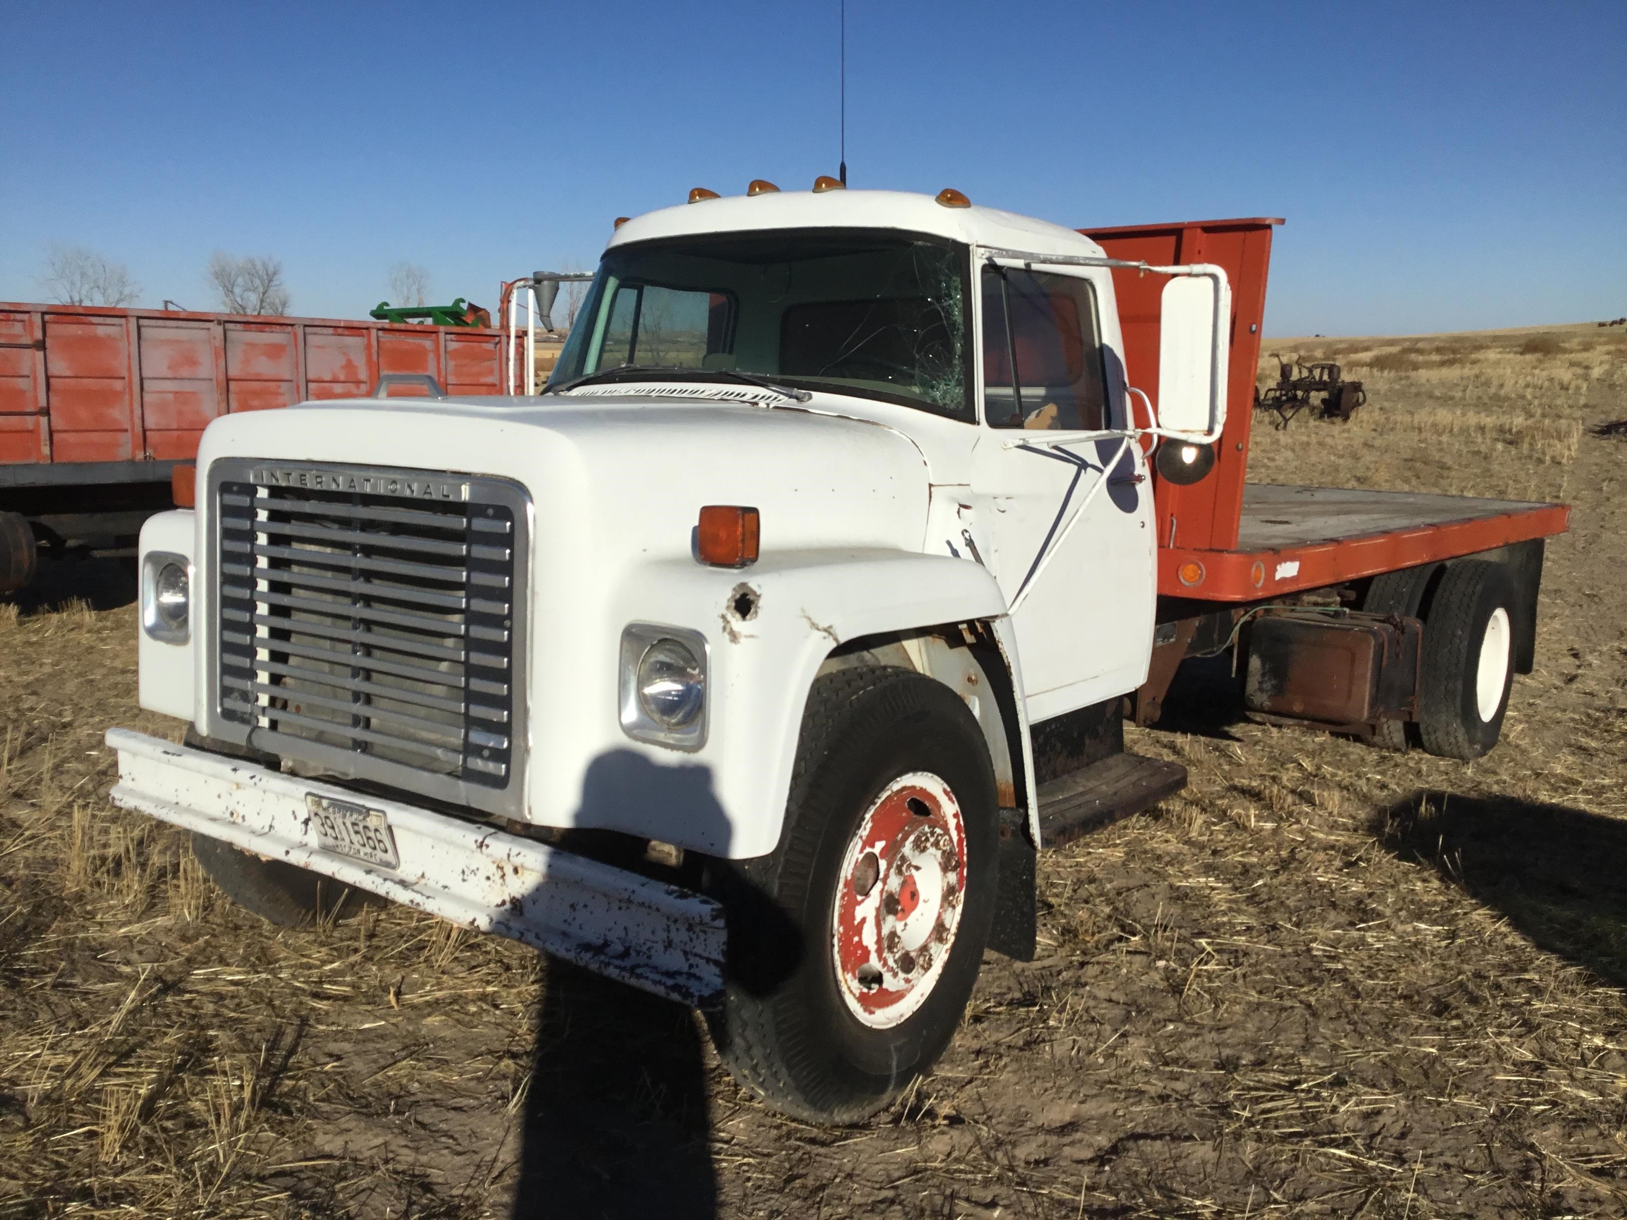
[[[513,1220],[718,1213],[695,1015],[550,958]]]

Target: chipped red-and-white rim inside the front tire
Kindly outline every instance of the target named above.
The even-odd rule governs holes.
[[[914,1013],[944,973],[966,891],[966,831],[955,794],[927,771],[870,802],[841,862],[831,909],[836,981],[874,1030]]]

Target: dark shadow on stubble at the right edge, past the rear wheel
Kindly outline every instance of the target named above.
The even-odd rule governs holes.
[[[1539,948],[1627,986],[1627,820],[1419,791],[1380,810],[1373,833],[1507,916]]]

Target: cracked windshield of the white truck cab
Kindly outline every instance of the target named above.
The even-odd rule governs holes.
[[[735,369],[971,420],[965,247],[799,229],[607,251],[552,384]],[[675,374],[683,376],[683,374]]]

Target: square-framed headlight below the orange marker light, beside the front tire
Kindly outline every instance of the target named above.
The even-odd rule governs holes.
[[[677,750],[706,743],[706,638],[700,631],[630,623],[622,633],[622,729]]]

